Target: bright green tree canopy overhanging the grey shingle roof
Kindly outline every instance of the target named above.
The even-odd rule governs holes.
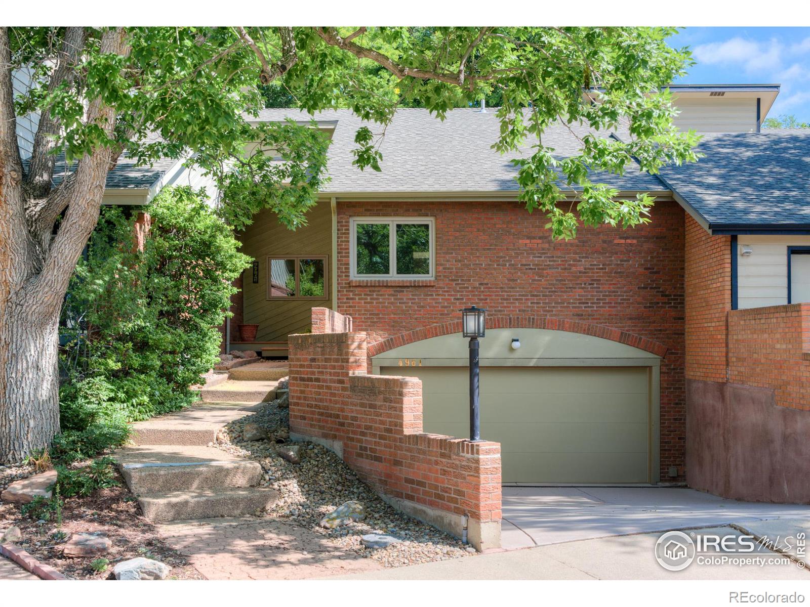
[[[689,52],[671,49],[673,28],[128,28],[129,53],[99,53],[100,30],[87,29],[81,95],[72,87],[35,89],[19,112],[49,108],[65,126],[57,148],[79,158],[99,146],[148,162],[185,157],[215,176],[224,215],[237,227],[270,207],[288,227],[305,223],[324,179],[326,146],[305,124],[261,125],[260,108],[292,104],[308,112],[352,108],[369,121],[356,134],[358,168],[385,170],[380,143],[398,107],[445,117],[488,98],[499,106],[493,147],[515,155],[520,198],[548,214],[556,237],[575,234],[578,219],[629,227],[648,220],[652,201],[617,200],[591,181],[595,171],[643,171],[692,161],[695,134],[679,133],[667,83],[684,74]],[[38,61],[60,30],[14,29],[15,60]],[[24,44],[23,44],[24,42]],[[116,108],[112,137],[83,124],[81,97]],[[18,112],[18,113],[19,113]],[[579,136],[582,151],[556,157],[543,142],[555,122],[619,130],[621,140]],[[377,123],[376,126],[374,123]],[[156,132],[160,141],[147,135]],[[245,155],[245,146],[271,150]],[[582,192],[573,209],[558,205]]]

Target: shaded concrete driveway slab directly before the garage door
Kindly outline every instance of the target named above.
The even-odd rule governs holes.
[[[501,545],[507,550],[598,537],[808,519],[810,506],[736,502],[672,487],[503,488]]]

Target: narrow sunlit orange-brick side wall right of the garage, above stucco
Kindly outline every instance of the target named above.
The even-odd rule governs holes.
[[[726,381],[731,236],[710,236],[686,216],[686,376]]]

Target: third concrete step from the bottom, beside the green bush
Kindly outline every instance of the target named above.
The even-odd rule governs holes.
[[[227,384],[228,382],[223,382]],[[220,384],[220,385],[223,385]],[[219,388],[220,386],[215,386]],[[215,389],[213,388],[213,389]],[[207,388],[203,388],[205,393]],[[145,422],[132,424],[131,441],[136,445],[201,445],[214,441],[216,431],[234,419],[243,418],[256,410],[250,402],[234,404],[202,403],[178,413],[161,415]],[[221,458],[220,458],[221,459]]]

